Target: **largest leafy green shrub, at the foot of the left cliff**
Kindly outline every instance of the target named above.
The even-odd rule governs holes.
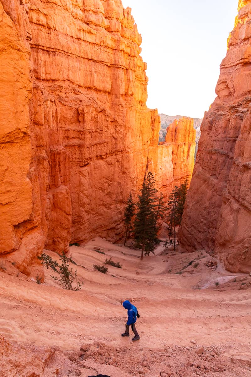
[[[81,290],[83,283],[81,283],[77,279],[77,270],[75,270],[75,273],[72,272],[72,268],[69,270],[68,267],[70,265],[70,262],[65,253],[60,256],[61,263],[55,261],[54,259],[52,259],[52,257],[44,253],[38,256],[38,259],[40,259],[40,261],[46,268],[50,268],[52,271],[58,274],[58,276],[51,275],[51,277],[52,279],[57,280],[64,289],[71,291]],[[73,282],[75,282],[77,285],[75,288],[73,288],[72,286]]]

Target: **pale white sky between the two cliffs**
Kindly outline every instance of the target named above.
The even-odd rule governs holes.
[[[148,102],[167,115],[203,118],[216,97],[238,0],[122,0],[142,35]]]

